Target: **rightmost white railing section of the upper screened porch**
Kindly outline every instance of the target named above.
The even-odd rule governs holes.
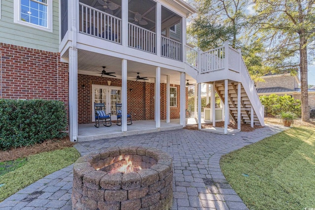
[[[162,36],[161,56],[182,61],[182,43]]]

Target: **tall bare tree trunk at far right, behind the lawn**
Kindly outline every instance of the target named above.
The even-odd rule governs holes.
[[[301,77],[301,112],[302,121],[310,121],[310,108],[307,82],[307,40],[303,34],[300,34],[300,77]]]

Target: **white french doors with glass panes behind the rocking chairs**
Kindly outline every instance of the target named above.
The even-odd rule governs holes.
[[[116,115],[116,103],[121,103],[122,88],[92,85],[92,121],[95,121],[94,102],[104,103],[106,114]]]

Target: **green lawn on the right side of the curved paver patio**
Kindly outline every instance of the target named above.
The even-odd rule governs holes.
[[[314,126],[292,127],[223,156],[220,164],[249,209],[315,208]]]

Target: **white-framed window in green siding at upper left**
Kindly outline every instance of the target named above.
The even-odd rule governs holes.
[[[14,23],[52,31],[52,0],[14,0]]]

